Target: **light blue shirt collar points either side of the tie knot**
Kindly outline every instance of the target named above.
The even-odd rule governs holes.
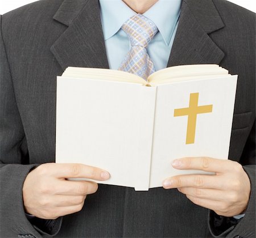
[[[122,0],[100,0],[100,7],[105,40],[115,35],[122,24],[136,14]],[[180,7],[181,0],[159,0],[143,14],[156,24],[166,45],[170,44],[172,33],[179,19]]]

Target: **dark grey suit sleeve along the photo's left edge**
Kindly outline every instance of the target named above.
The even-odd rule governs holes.
[[[0,29],[2,29],[1,15]],[[0,90],[0,236],[47,236],[47,233],[32,225],[24,212],[23,182],[31,169],[38,165],[29,164],[26,134],[16,105],[2,30],[0,31]]]

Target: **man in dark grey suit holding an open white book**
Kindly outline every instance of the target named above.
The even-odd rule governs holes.
[[[134,15],[160,6],[168,16],[163,4],[179,6],[179,1],[123,2]],[[127,7],[123,2],[114,2],[122,4],[121,15]],[[148,45],[156,70],[164,62],[217,63],[239,75],[230,160],[183,158],[172,164],[215,175],[167,178],[165,189],[135,192],[66,180],[106,180],[104,168],[49,163],[55,161],[56,76],[67,66],[114,68],[119,63],[104,25],[113,1],[100,3],[101,8],[96,0],[39,1],[2,16],[1,237],[254,237],[255,15],[232,3],[182,1],[171,20],[170,58],[150,53],[158,40],[164,44],[165,18],[156,18],[164,24],[158,23],[158,40]],[[127,44],[120,28],[113,36],[119,32],[119,44]]]

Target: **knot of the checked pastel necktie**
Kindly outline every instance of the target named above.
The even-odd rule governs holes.
[[[141,14],[129,18],[123,23],[122,29],[127,34],[132,46],[143,47],[146,47],[158,32],[155,23]]]

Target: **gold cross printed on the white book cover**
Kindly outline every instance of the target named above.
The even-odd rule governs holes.
[[[200,113],[212,112],[213,105],[198,106],[199,93],[190,94],[189,107],[174,109],[174,116],[188,116],[186,144],[195,143],[196,117]]]

